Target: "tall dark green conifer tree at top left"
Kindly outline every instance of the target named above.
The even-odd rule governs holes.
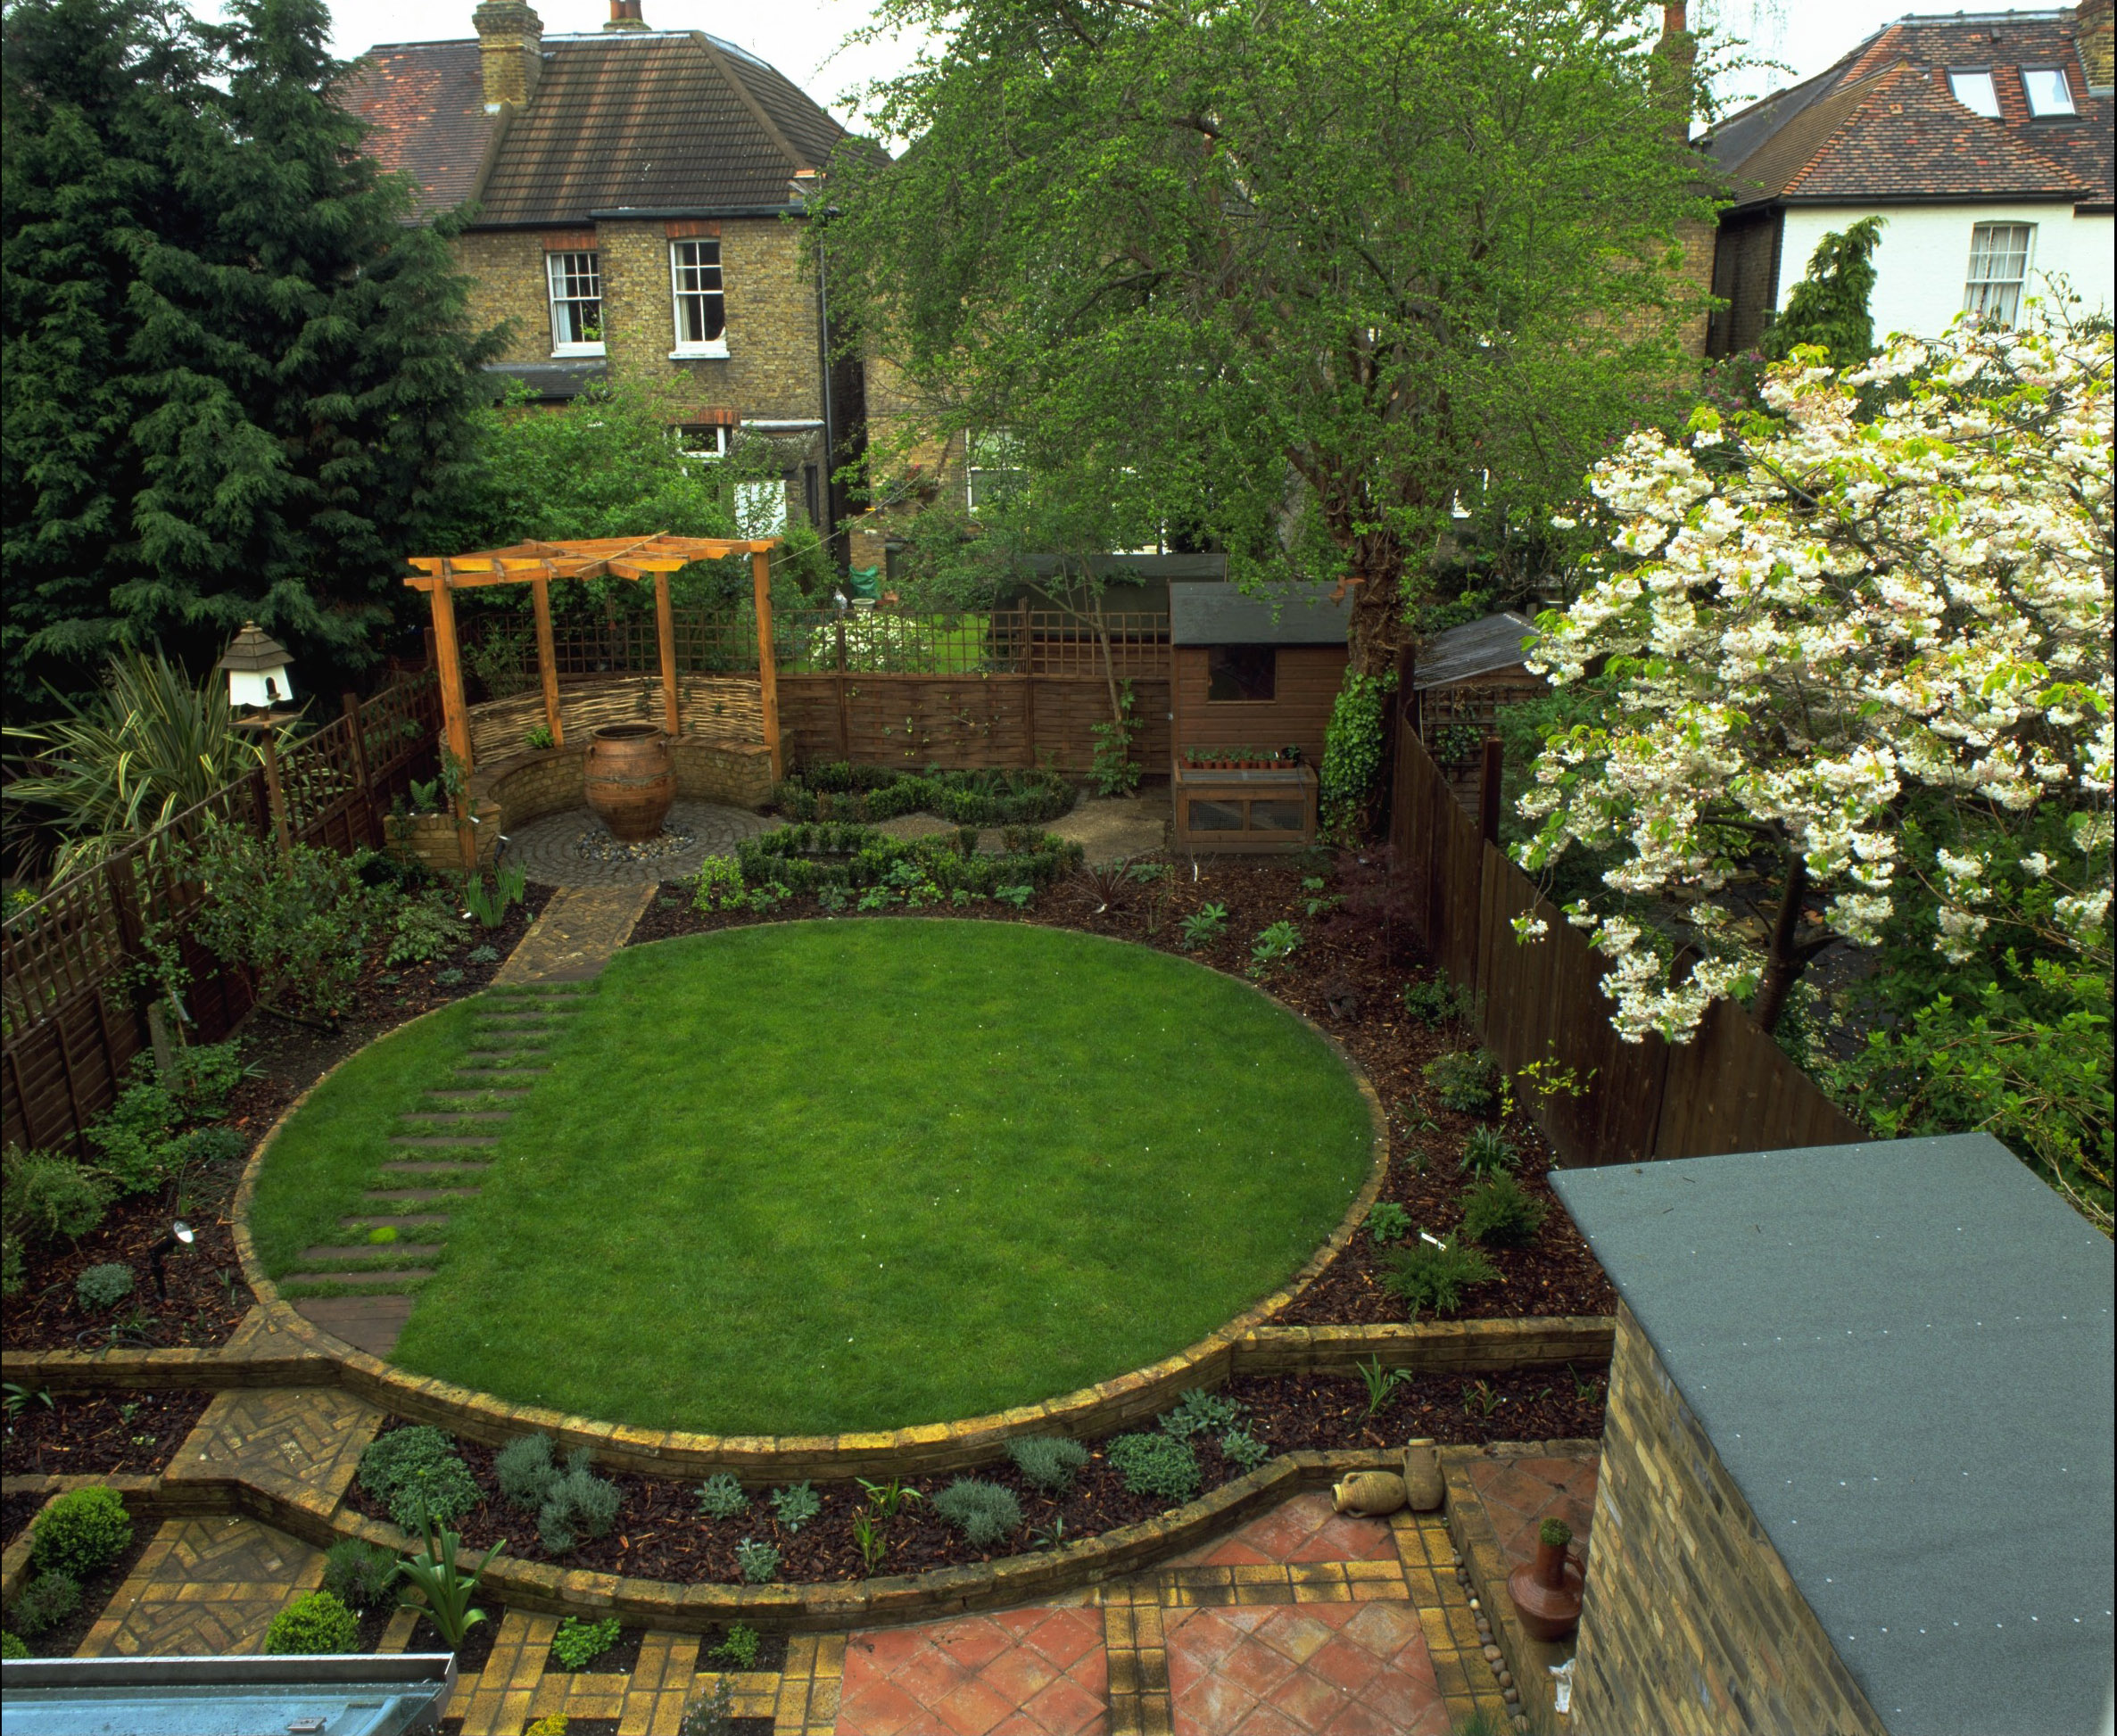
[[[447,224],[360,152],[320,0],[4,19],[6,697],[246,618],[309,686],[381,654],[491,345]]]

